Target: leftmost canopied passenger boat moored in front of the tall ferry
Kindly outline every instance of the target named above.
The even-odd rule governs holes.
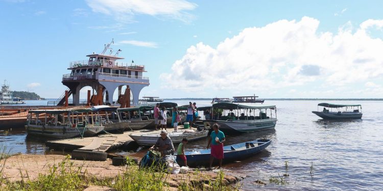
[[[89,108],[30,110],[25,127],[28,134],[54,139],[91,137],[104,130],[99,119]]]

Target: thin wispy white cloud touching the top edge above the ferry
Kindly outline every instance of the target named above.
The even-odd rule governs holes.
[[[131,22],[136,14],[170,17],[184,22],[193,19],[185,12],[193,10],[197,4],[185,0],[86,0],[93,12],[112,15],[119,22]]]

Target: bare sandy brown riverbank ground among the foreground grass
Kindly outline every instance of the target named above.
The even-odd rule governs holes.
[[[11,156],[7,159],[1,160],[2,178],[8,182],[18,181],[34,181],[38,179],[39,175],[49,175],[52,167],[59,166],[62,161],[68,161],[71,163],[71,168],[81,168],[81,174],[86,177],[96,177],[99,180],[114,178],[117,175],[121,175],[127,171],[127,167],[112,166],[112,160],[106,161],[83,161],[67,159],[67,156],[63,155],[28,155],[21,154]],[[67,164],[68,165],[68,164]],[[137,166],[131,166],[128,168],[137,168]],[[165,182],[166,187],[164,190],[178,190],[181,184],[186,182],[199,182],[204,185],[209,181],[214,181],[218,177],[219,173],[214,171],[190,171],[188,174],[167,175],[162,180]],[[234,184],[242,179],[240,176],[225,173],[222,182],[224,185]],[[206,186],[206,185],[204,185]],[[88,185],[87,190],[105,190],[105,187],[98,187]]]

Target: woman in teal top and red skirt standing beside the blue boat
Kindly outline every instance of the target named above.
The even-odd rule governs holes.
[[[213,131],[211,131],[209,141],[207,142],[206,149],[209,149],[209,146],[211,145],[210,149],[210,163],[209,163],[209,169],[211,170],[211,165],[213,164],[213,159],[217,158],[219,162],[218,169],[222,166],[222,159],[224,158],[224,152],[223,152],[223,142],[225,139],[225,134],[219,130],[220,125],[217,123],[214,123],[213,125]]]

